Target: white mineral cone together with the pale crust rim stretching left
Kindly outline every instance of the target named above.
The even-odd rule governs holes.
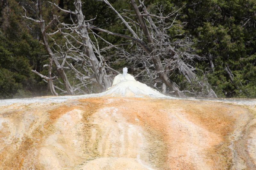
[[[70,99],[81,99],[89,97],[151,97],[151,98],[171,98],[173,97],[165,96],[164,94],[158,92],[147,85],[136,81],[131,74],[127,74],[127,68],[123,69],[123,74],[119,74],[114,78],[113,84],[106,92],[101,92],[97,94],[85,94],[79,96],[56,96],[56,97],[35,97],[26,99],[7,99],[0,100],[0,106],[11,105],[13,103],[60,103],[65,102]]]

